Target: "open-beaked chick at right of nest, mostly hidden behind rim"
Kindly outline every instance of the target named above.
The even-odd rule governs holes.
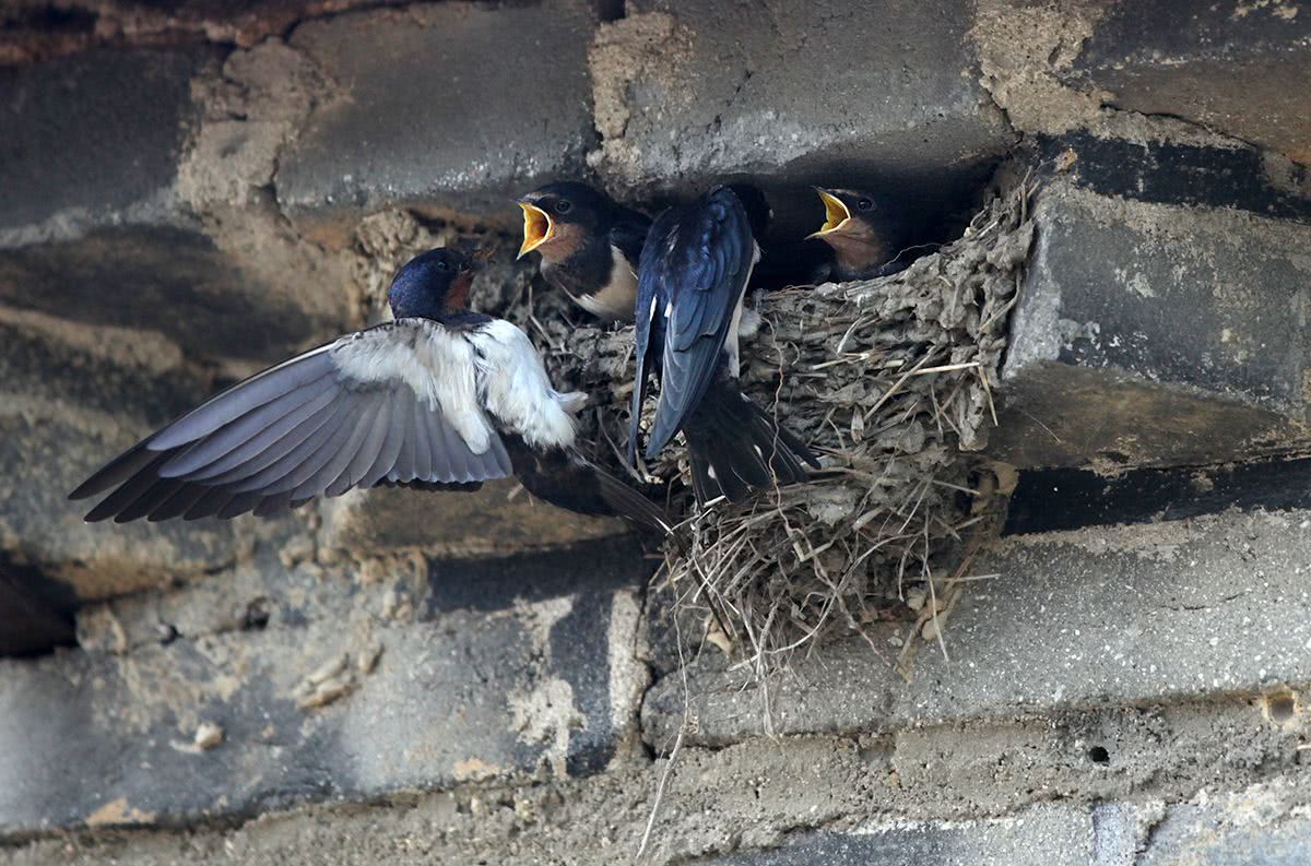
[[[825,221],[809,237],[832,248],[829,279],[872,279],[906,267],[909,262],[899,258],[906,241],[905,224],[895,219],[895,208],[886,198],[818,186],[815,193],[823,202]]]

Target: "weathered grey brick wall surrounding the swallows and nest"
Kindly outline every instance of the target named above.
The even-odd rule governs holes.
[[[1311,7],[174,5],[0,12],[0,863],[612,863],[657,802],[653,863],[1311,858]],[[505,486],[64,499],[544,179],[878,185],[948,240],[1003,162],[1015,483],[947,656],[754,679]]]

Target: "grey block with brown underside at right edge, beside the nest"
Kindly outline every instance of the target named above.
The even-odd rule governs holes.
[[[1307,202],[1234,177],[1249,151],[1066,145],[1037,195],[992,453],[1122,469],[1304,451]]]

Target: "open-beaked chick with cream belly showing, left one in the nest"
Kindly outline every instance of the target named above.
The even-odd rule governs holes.
[[[548,183],[519,199],[523,246],[541,253],[541,275],[585,311],[629,322],[637,301],[637,259],[650,228],[645,214],[586,183]]]

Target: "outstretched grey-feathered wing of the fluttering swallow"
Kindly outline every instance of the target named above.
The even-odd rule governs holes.
[[[233,385],[71,498],[108,491],[87,520],[123,523],[269,514],[384,482],[503,478],[511,461],[480,402],[481,377],[464,333],[385,322]]]

